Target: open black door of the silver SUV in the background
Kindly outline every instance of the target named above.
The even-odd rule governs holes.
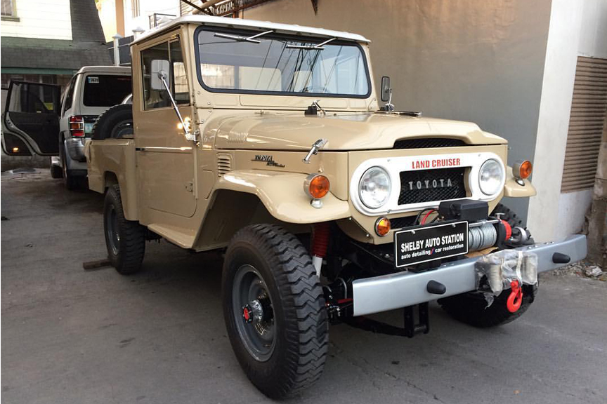
[[[58,156],[59,97],[60,86],[12,81],[2,117],[4,136],[16,137],[41,156]]]

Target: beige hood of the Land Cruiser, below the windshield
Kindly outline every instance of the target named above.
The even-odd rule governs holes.
[[[305,116],[297,113],[237,114],[209,123],[218,149],[308,151],[318,139],[323,150],[392,149],[396,140],[443,137],[468,144],[504,144],[476,123],[386,113],[341,113]]]

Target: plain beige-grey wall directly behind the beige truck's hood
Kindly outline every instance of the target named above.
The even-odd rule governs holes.
[[[397,109],[474,121],[533,158],[551,0],[276,0],[244,18],[357,32]],[[504,201],[526,216],[528,199]]]

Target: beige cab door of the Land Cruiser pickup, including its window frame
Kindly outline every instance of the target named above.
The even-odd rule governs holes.
[[[145,217],[159,217],[155,212],[191,217],[196,210],[194,143],[186,140],[172,107],[169,93],[152,88],[152,62],[168,62],[167,81],[181,116],[192,116],[190,91],[177,34],[164,36],[141,50],[133,69],[141,74],[133,91],[135,145],[139,198]],[[135,88],[138,86],[139,88]]]

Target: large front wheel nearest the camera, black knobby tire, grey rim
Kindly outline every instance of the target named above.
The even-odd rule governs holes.
[[[226,252],[222,292],[235,356],[262,393],[293,396],[320,377],[329,339],[325,299],[298,238],[269,224],[238,231]]]

